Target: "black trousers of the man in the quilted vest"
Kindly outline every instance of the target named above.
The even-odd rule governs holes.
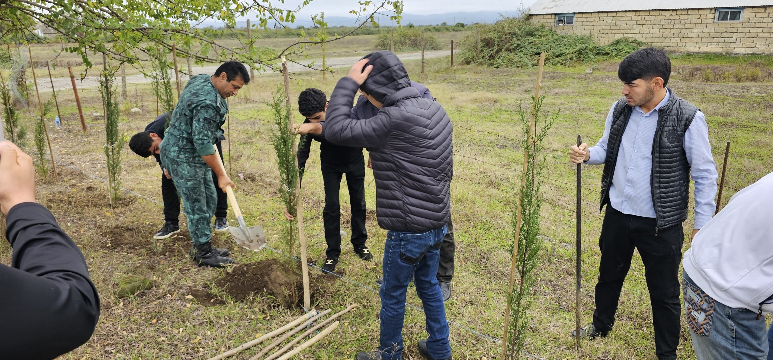
[[[631,268],[633,250],[642,256],[652,306],[655,349],[659,360],[676,359],[682,306],[679,302],[679,262],[682,261],[682,224],[658,230],[652,217],[622,214],[607,205],[601,226],[601,264],[596,284],[593,325],[598,331],[615,324],[620,291]]]

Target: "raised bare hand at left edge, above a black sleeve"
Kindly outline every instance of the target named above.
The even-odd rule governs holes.
[[[10,141],[0,142],[0,211],[8,214],[17,204],[36,202],[32,157]]]

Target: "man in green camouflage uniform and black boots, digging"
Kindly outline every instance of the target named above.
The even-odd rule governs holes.
[[[215,155],[214,143],[223,134],[228,105],[226,98],[236,95],[250,82],[241,62],[225,62],[209,76],[193,76],[172,113],[172,121],[161,143],[161,158],[182,198],[188,228],[196,248],[193,261],[199,266],[223,267],[233,263],[212,245],[209,224],[215,213],[217,196],[212,173],[221,189],[234,187]]]

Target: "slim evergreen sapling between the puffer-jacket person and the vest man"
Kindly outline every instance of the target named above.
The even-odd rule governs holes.
[[[523,139],[520,145],[526,154],[526,173],[523,174],[523,186],[516,197],[521,200],[521,227],[519,234],[515,234],[516,213],[512,214],[513,236],[518,236],[518,254],[516,260],[516,271],[519,275],[519,282],[512,288],[512,292],[507,294],[507,301],[510,303],[512,311],[510,313],[508,337],[507,337],[507,358],[516,359],[523,348],[523,341],[526,339],[526,328],[529,326],[529,318],[526,311],[532,304],[530,295],[532,287],[536,281],[534,269],[536,268],[537,256],[542,247],[540,239],[540,210],[542,208],[542,176],[545,169],[545,158],[542,155],[543,140],[547,136],[548,130],[558,117],[558,114],[543,114],[542,105],[545,96],[532,96],[530,98],[528,109],[519,107],[517,116],[523,124]],[[531,122],[533,118],[533,128]],[[516,198],[516,204],[518,199]],[[510,250],[512,251],[511,244]]]

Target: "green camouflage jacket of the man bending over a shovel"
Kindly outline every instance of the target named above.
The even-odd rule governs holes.
[[[228,104],[207,74],[193,76],[172,113],[172,121],[162,143],[165,158],[181,163],[206,164],[201,156],[215,153],[223,135]]]

